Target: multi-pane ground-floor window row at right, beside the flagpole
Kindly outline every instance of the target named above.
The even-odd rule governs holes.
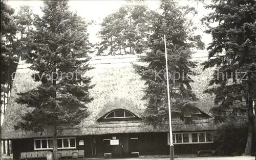
[[[169,134],[167,135],[169,136]],[[169,138],[168,138],[169,144]],[[212,143],[211,132],[190,132],[173,134],[174,144],[187,143]]]

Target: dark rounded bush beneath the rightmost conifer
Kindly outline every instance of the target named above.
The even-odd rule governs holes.
[[[229,118],[218,124],[213,139],[218,146],[217,151],[225,155],[241,155],[244,153],[248,134],[246,120]]]

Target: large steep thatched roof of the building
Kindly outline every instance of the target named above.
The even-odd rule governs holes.
[[[65,128],[58,133],[58,136],[78,136],[78,135],[101,135],[122,132],[158,132],[168,131],[168,125],[153,126],[146,125],[140,120],[118,121],[118,122],[98,122],[97,119],[116,109],[125,109],[140,117],[145,109],[143,96],[144,82],[135,73],[131,63],[138,63],[136,55],[125,56],[105,56],[94,57],[90,64],[94,69],[87,74],[92,76],[92,84],[96,86],[91,90],[94,100],[88,105],[90,116],[84,119],[78,126]],[[14,125],[20,120],[20,116],[27,109],[25,105],[17,104],[15,99],[17,93],[25,92],[35,88],[39,83],[35,83],[31,78],[33,71],[28,69],[29,64],[20,61],[13,81],[13,88],[8,102],[5,119],[2,127],[2,139],[18,139],[32,137],[52,137],[51,131],[35,134],[32,131],[15,130]],[[194,91],[200,98],[198,107],[201,111],[209,113],[213,105],[213,97],[202,94],[207,87],[210,73],[213,69],[201,71],[199,66],[195,70],[201,75],[193,76],[195,83],[192,84]],[[211,123],[179,124],[174,122],[174,131],[196,131],[212,129]]]

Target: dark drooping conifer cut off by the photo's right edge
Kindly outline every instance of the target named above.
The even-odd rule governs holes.
[[[253,99],[256,99],[256,1],[213,1],[207,8],[213,13],[203,18],[207,22],[218,22],[206,33],[212,35],[209,60],[204,68],[217,65],[206,93],[216,94],[218,105],[213,111],[221,122],[223,110],[242,108],[248,113],[248,138],[245,154],[255,153],[255,125]],[[216,57],[212,59],[213,57]],[[225,118],[225,117],[224,117]]]

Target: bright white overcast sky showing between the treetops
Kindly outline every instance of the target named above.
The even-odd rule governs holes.
[[[159,6],[159,1],[145,1],[146,5],[151,10],[157,10]],[[208,44],[211,42],[211,36],[206,35],[203,33],[203,26],[201,25],[200,19],[205,16],[207,13],[211,12],[209,10],[206,10],[204,8],[204,4],[202,3],[196,3],[193,0],[180,0],[177,1],[180,5],[189,5],[194,6],[198,10],[198,15],[195,17],[191,17],[195,23],[197,23],[199,30],[196,32],[197,34],[202,35],[202,40],[205,42],[205,44]],[[118,10],[119,7],[124,5],[125,1],[70,1],[70,9],[72,11],[76,11],[78,15],[81,17],[84,17],[87,20],[94,20],[97,23],[101,22],[101,20],[106,16],[109,15],[116,10]],[[210,3],[210,1],[205,1],[205,4]],[[42,15],[42,12],[40,10],[40,6],[42,6],[42,1],[8,1],[8,4],[14,8],[16,11],[19,9],[19,6],[22,5],[29,5],[33,8],[33,12],[38,15]],[[99,39],[96,36],[96,33],[100,30],[99,25],[91,25],[88,27],[88,32],[90,34],[90,41],[92,43],[99,42]]]

